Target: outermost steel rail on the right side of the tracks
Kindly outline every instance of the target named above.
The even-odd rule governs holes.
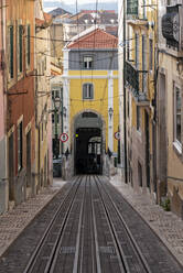
[[[132,236],[130,229],[128,228],[128,226],[127,226],[127,223],[126,223],[126,221],[125,221],[125,219],[123,219],[121,212],[119,211],[117,205],[116,205],[115,201],[112,200],[112,198],[111,198],[111,196],[109,195],[109,193],[106,190],[106,187],[104,187],[104,185],[103,185],[103,183],[100,182],[100,179],[99,179],[98,176],[97,176],[97,179],[98,179],[98,183],[100,184],[100,187],[103,187],[103,190],[106,193],[106,195],[107,195],[108,198],[110,199],[110,201],[111,201],[111,204],[112,204],[112,206],[114,206],[114,208],[115,208],[115,210],[116,210],[118,217],[120,218],[120,220],[121,220],[121,222],[122,222],[122,225],[123,225],[123,228],[125,228],[125,230],[127,231],[127,234],[128,234],[128,237],[129,237],[129,239],[130,239],[130,241],[131,241],[131,243],[132,243],[132,245],[133,245],[133,248],[134,248],[134,250],[136,250],[136,253],[138,254],[138,256],[139,256],[141,263],[142,263],[142,265],[143,265],[146,272],[147,272],[147,273],[152,273],[152,271],[150,270],[150,267],[149,267],[149,265],[148,265],[148,262],[147,262],[146,258],[143,256],[143,254],[142,254],[140,248],[139,248],[139,245],[137,244],[137,242],[136,242],[136,240],[134,240],[134,238],[133,238],[133,236]],[[107,184],[106,184],[106,185],[107,185]]]

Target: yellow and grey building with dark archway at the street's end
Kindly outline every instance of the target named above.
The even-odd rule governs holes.
[[[63,129],[68,135],[64,152],[71,153],[68,166],[75,174],[107,173],[117,157],[117,44],[116,36],[93,29],[64,48]]]

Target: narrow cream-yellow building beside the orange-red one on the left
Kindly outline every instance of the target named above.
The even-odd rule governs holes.
[[[35,190],[52,183],[52,117],[50,23],[41,1],[35,2]]]

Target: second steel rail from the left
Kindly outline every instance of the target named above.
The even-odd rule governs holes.
[[[82,184],[82,181],[80,181],[78,187],[80,186],[80,184]],[[77,189],[78,189],[78,187],[77,187]],[[60,253],[62,240],[63,240],[63,237],[64,237],[64,229],[65,229],[65,227],[66,227],[66,225],[68,222],[69,215],[71,215],[72,208],[74,206],[75,196],[76,196],[76,193],[75,193],[75,195],[74,195],[74,197],[73,197],[73,199],[69,203],[69,206],[67,208],[66,215],[65,215],[64,220],[62,222],[62,227],[60,229],[57,239],[56,239],[56,241],[54,243],[54,247],[52,249],[52,252],[51,252],[51,255],[49,258],[49,261],[47,261],[46,267],[44,270],[44,273],[54,273],[54,269],[55,269],[57,256],[58,256],[58,253]]]

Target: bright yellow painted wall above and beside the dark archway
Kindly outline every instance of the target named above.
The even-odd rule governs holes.
[[[118,96],[118,72],[114,70],[114,96],[108,98],[108,70],[69,70],[69,123],[79,112],[94,110],[99,113],[106,123],[106,151],[108,149],[108,99],[114,105],[114,133],[118,131],[119,125],[119,96]],[[75,78],[73,78],[75,77]],[[85,78],[87,77],[87,78]],[[97,78],[96,78],[97,77]],[[101,78],[100,78],[101,77]],[[83,85],[92,83],[94,85],[94,99],[83,100]],[[114,152],[117,153],[117,140],[114,136]]]

